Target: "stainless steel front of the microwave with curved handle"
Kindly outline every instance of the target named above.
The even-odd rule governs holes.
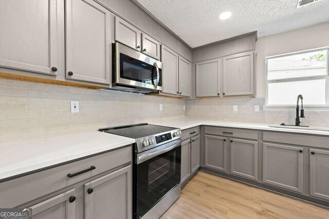
[[[162,63],[116,43],[115,83],[162,90]]]

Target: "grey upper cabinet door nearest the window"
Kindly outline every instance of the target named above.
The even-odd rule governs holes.
[[[223,95],[254,94],[254,52],[223,58]]]

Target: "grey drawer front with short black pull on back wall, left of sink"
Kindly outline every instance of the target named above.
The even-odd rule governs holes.
[[[228,136],[228,137],[247,138],[247,139],[255,139],[255,140],[258,139],[257,131],[229,129],[226,127],[206,126],[205,134],[222,135],[222,136]]]

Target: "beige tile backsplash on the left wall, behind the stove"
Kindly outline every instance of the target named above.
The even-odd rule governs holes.
[[[70,113],[70,101],[79,101],[80,113]],[[0,79],[0,143],[184,118],[184,104],[174,98]]]

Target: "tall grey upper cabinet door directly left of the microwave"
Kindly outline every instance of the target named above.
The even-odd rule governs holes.
[[[66,1],[66,78],[109,84],[111,12],[93,0]]]

